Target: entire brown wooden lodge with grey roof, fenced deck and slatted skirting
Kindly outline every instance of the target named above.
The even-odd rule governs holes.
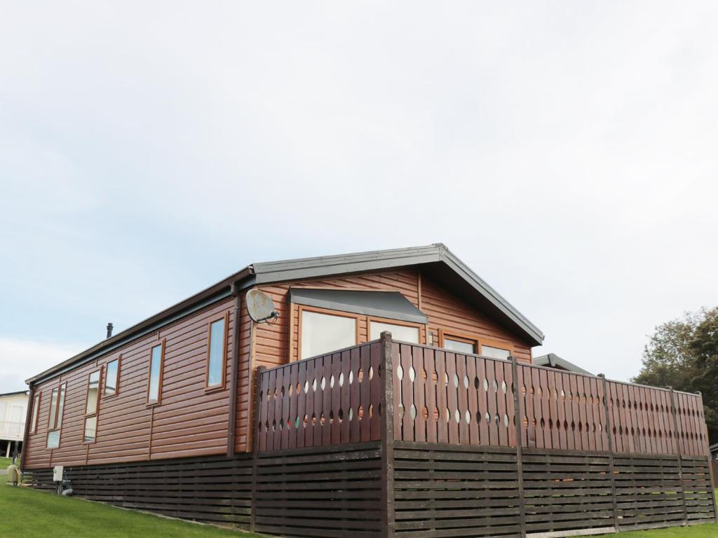
[[[700,395],[534,365],[543,338],[444,245],[249,265],[29,379],[22,466],[284,536],[715,521]]]

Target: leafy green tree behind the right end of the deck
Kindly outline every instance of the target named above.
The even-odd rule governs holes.
[[[718,442],[718,307],[684,313],[656,327],[632,379],[655,387],[703,394],[709,438]]]

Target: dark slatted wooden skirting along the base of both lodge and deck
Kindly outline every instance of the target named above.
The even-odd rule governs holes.
[[[87,499],[287,537],[547,538],[715,518],[707,458],[526,448],[519,466],[513,448],[398,441],[385,468],[381,450],[371,442],[65,471]],[[35,487],[54,489],[51,469],[32,472]]]

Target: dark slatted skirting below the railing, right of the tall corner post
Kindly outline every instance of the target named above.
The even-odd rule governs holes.
[[[397,536],[521,536],[516,452],[398,441],[394,458]],[[527,448],[522,462],[528,536],[714,521],[705,459],[683,458],[681,479],[678,456],[615,458],[615,513],[606,453]]]

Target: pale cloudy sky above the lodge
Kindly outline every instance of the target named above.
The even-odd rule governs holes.
[[[0,392],[249,263],[444,242],[612,379],[718,305],[712,1],[0,0]]]

